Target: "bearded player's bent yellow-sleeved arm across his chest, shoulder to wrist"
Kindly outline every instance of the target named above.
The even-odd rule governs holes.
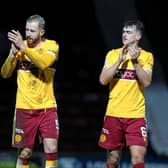
[[[53,49],[35,50],[26,48],[24,53],[39,68],[46,69],[58,59],[59,46],[56,44]]]

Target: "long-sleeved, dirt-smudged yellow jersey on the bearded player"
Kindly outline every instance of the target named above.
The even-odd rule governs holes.
[[[54,75],[58,52],[58,43],[45,39],[38,48],[27,47],[24,53],[19,51],[15,57],[7,57],[1,75],[8,78],[17,67],[16,108],[43,109],[57,106]]]

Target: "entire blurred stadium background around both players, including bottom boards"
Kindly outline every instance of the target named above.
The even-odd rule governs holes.
[[[12,8],[9,10],[9,6]],[[121,28],[126,19],[144,22],[142,47],[155,57],[153,83],[146,90],[149,147],[147,168],[168,167],[168,66],[167,9],[152,0],[74,0],[38,2],[6,1],[0,11],[0,65],[10,43],[7,32],[24,34],[29,15],[46,19],[46,37],[60,44],[55,91],[60,120],[59,168],[104,168],[105,151],[97,145],[105,112],[108,87],[98,78],[105,54],[121,46]],[[10,12],[9,12],[10,11]],[[0,168],[14,168],[17,150],[11,148],[16,73],[0,77]],[[31,168],[43,168],[42,146],[34,148]],[[129,153],[123,153],[121,168],[130,168]]]

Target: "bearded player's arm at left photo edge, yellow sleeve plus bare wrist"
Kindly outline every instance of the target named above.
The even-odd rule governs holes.
[[[5,60],[4,64],[1,67],[1,76],[3,78],[9,78],[17,64],[17,49],[12,44],[9,56]]]

